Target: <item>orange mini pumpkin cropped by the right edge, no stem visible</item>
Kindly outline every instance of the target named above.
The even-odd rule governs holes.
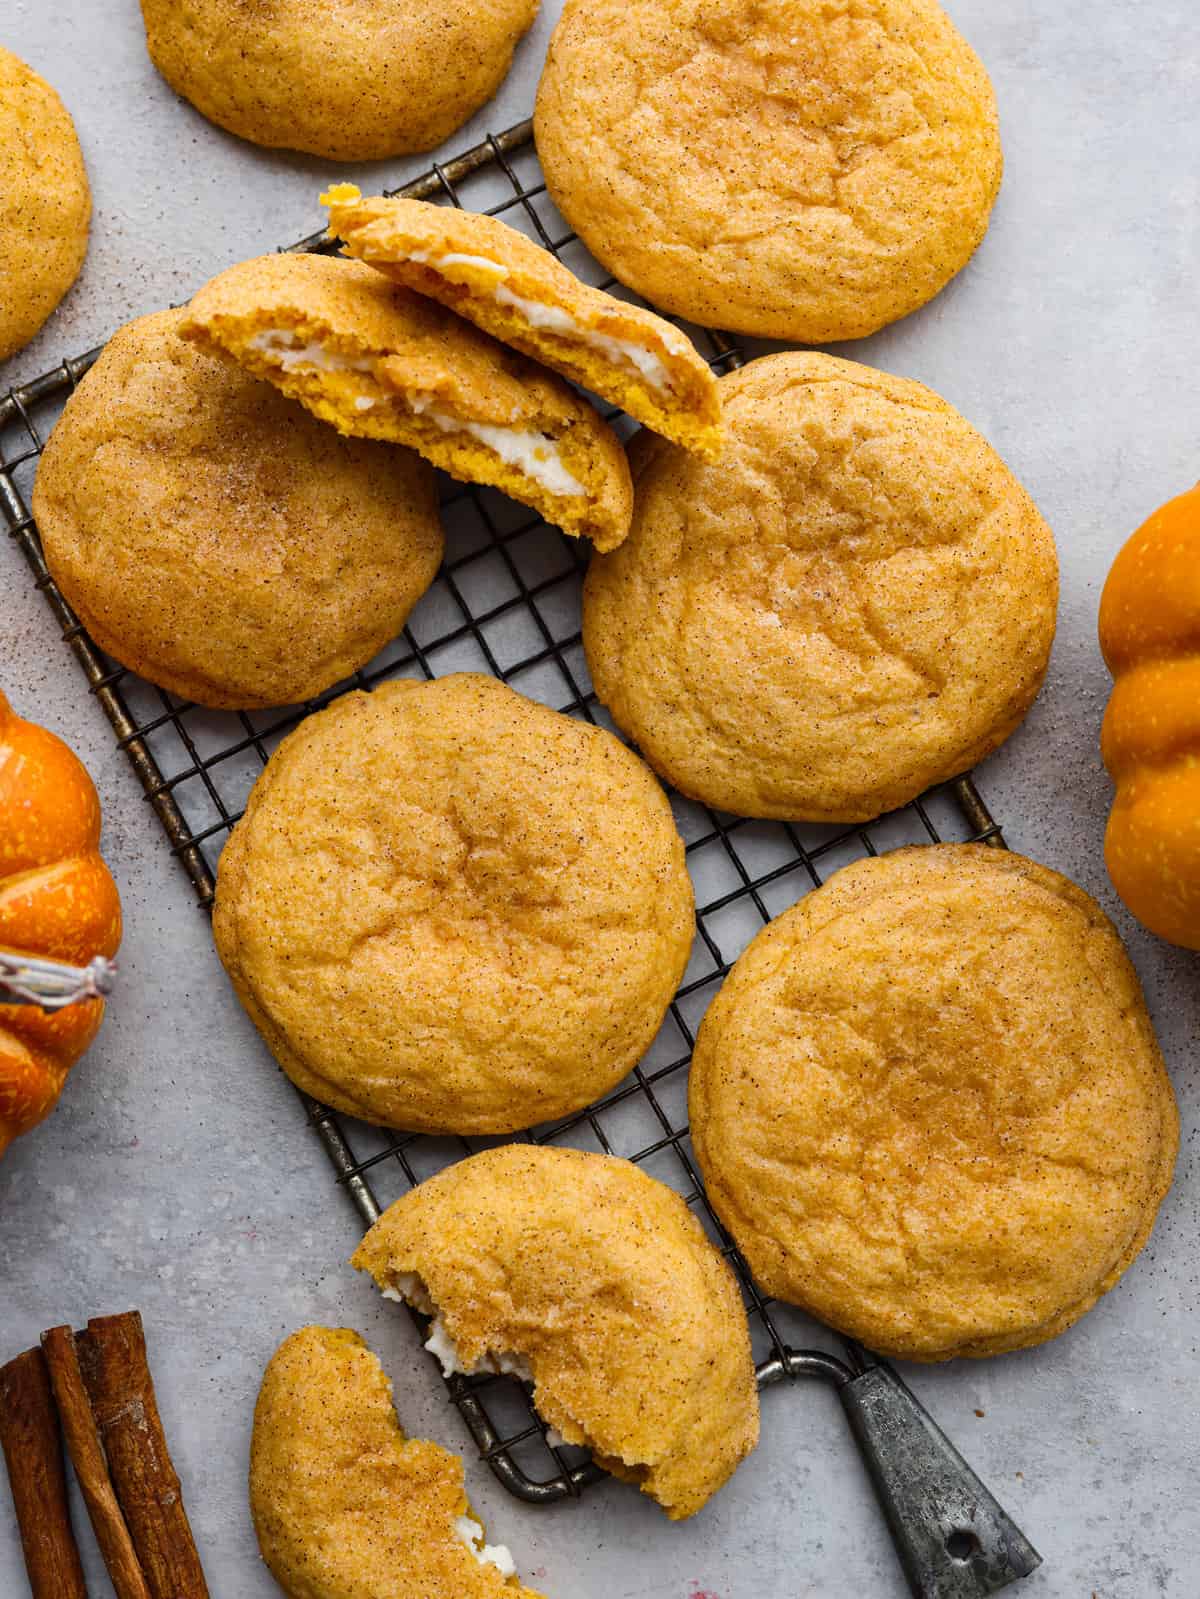
[[[1114,561],[1099,638],[1115,678],[1101,734],[1117,784],[1109,876],[1150,932],[1200,950],[1200,484]]]

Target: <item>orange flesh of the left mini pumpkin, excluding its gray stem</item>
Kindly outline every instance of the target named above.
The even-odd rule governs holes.
[[[61,739],[0,694],[0,948],[86,966],[122,937],[117,884],[99,855],[96,787]],[[0,1004],[0,1154],[46,1116],[104,1015]]]

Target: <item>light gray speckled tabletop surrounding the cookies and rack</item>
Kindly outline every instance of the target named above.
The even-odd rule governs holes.
[[[557,5],[501,96],[453,142],[525,115]],[[1197,477],[1200,54],[1192,0],[954,0],[1000,96],[1006,177],[973,265],[854,357],[920,377],[995,441],[1054,526],[1062,608],[1050,681],[981,782],[1008,839],[1115,913],[1182,1107],[1178,1182],[1152,1246],[1056,1343],[909,1374],[1045,1554],[1032,1596],[1197,1591],[1195,1305],[1200,969],[1141,934],[1101,863],[1107,676],[1094,614],[1109,561]],[[96,192],[80,285],[3,385],[181,299],[211,272],[317,225],[330,168],[208,126],[155,77],[134,0],[3,0],[0,40],[74,112]],[[389,179],[422,158],[390,165]],[[349,1204],[226,988],[205,918],[80,689],[50,614],[0,540],[0,681],[62,732],[106,804],[128,931],[120,999],[58,1113],[0,1166],[0,1351],[136,1303],[192,1519],[221,1599],[267,1599],[245,1509],[262,1364],[306,1321],[360,1327],[411,1431],[467,1447],[408,1321],[344,1265]],[[982,1412],[979,1415],[978,1412]],[[696,1521],[624,1487],[530,1511],[469,1463],[493,1537],[528,1580],[578,1599],[819,1596],[904,1588],[832,1398],[765,1399],[763,1444]],[[90,1553],[94,1593],[109,1593]],[[0,1495],[0,1594],[24,1578]]]

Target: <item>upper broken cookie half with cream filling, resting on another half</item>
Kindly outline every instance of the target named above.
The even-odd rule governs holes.
[[[717,379],[669,321],[581,283],[494,216],[426,200],[322,197],[346,251],[701,456],[720,449]]]

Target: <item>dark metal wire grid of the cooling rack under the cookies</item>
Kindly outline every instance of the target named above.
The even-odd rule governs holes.
[[[614,293],[554,209],[520,123],[398,193],[501,216],[552,249],[579,277]],[[323,233],[293,249],[331,248]],[[718,334],[688,329],[714,369],[741,357]],[[285,712],[205,710],[154,688],[104,656],[59,593],[29,510],[37,459],[62,405],[99,352],[93,350],[0,400],[0,507],[99,699],[203,907],[213,900],[216,859],[246,795],[280,739],[309,712],[352,688],[392,676],[434,678],[490,672],[531,699],[610,726],[598,705],[579,635],[586,548],[488,489],[443,481],[445,564],[400,638],[354,678],[318,700]],[[627,427],[624,419],[614,419]],[[686,1076],[699,1019],[725,972],[755,932],[838,867],[910,843],[973,839],[1000,844],[1000,828],[970,777],[931,790],[866,827],[811,827],[722,815],[672,795],[696,887],[696,943],[675,1003],[645,1060],[589,1110],[536,1129],[544,1143],[626,1156],[680,1193],[738,1271],[746,1295],[758,1380],[851,1369],[811,1343],[818,1329],[790,1306],[763,1298],[704,1196],[686,1122]],[[334,1115],[301,1095],[338,1182],[365,1223],[411,1185],[488,1142],[392,1134]],[[416,1314],[416,1313],[414,1313]],[[418,1318],[419,1319],[419,1318]],[[826,1335],[827,1337],[827,1335]],[[523,1386],[507,1377],[453,1377],[450,1394],[480,1453],[520,1498],[579,1493],[602,1473],[581,1450],[550,1445]]]

